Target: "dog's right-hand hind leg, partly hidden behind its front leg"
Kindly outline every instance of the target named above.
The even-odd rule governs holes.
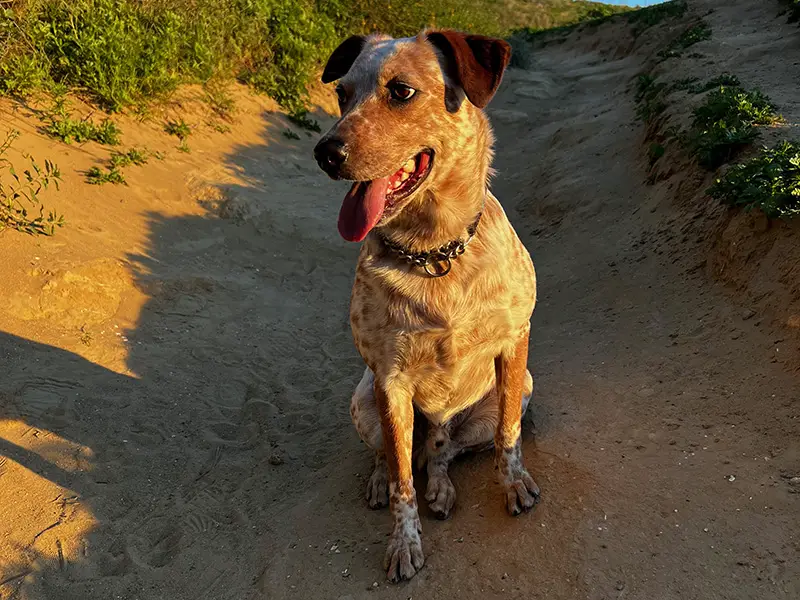
[[[522,414],[533,393],[533,378],[525,373],[522,389]],[[446,519],[456,501],[456,489],[447,471],[450,463],[464,452],[488,450],[494,445],[498,421],[498,395],[493,389],[480,402],[459,413],[444,425],[429,424],[425,454],[428,461],[428,487],[425,499],[439,519]]]

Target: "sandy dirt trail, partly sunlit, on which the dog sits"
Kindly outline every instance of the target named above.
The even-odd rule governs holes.
[[[700,52],[800,38],[731,4]],[[0,598],[797,598],[785,334],[680,239],[672,198],[695,176],[645,184],[629,84],[671,27],[548,46],[493,105],[494,189],[540,280],[525,452],[544,500],[511,519],[490,457],[459,462],[455,515],[423,509],[426,567],[402,586],[384,582],[390,523],[366,508],[348,418],[357,248],[313,139],[245,96],[234,132],[201,126],[189,155],[124,122],[126,144],[168,155],[98,189],[76,170],[107,151],[41,138],[20,109],[21,141],[67,174],[49,199],[70,224],[0,237]],[[782,85],[742,54],[726,68]]]

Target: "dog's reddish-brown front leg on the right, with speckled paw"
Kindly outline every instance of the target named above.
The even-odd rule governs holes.
[[[494,436],[495,467],[512,515],[529,510],[539,498],[539,486],[522,462],[522,398],[528,362],[528,336],[495,358],[500,414]]]

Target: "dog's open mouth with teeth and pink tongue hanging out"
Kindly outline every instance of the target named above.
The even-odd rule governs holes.
[[[393,175],[356,181],[339,211],[339,233],[349,242],[360,242],[400,201],[413,194],[433,167],[433,150],[409,158]]]

